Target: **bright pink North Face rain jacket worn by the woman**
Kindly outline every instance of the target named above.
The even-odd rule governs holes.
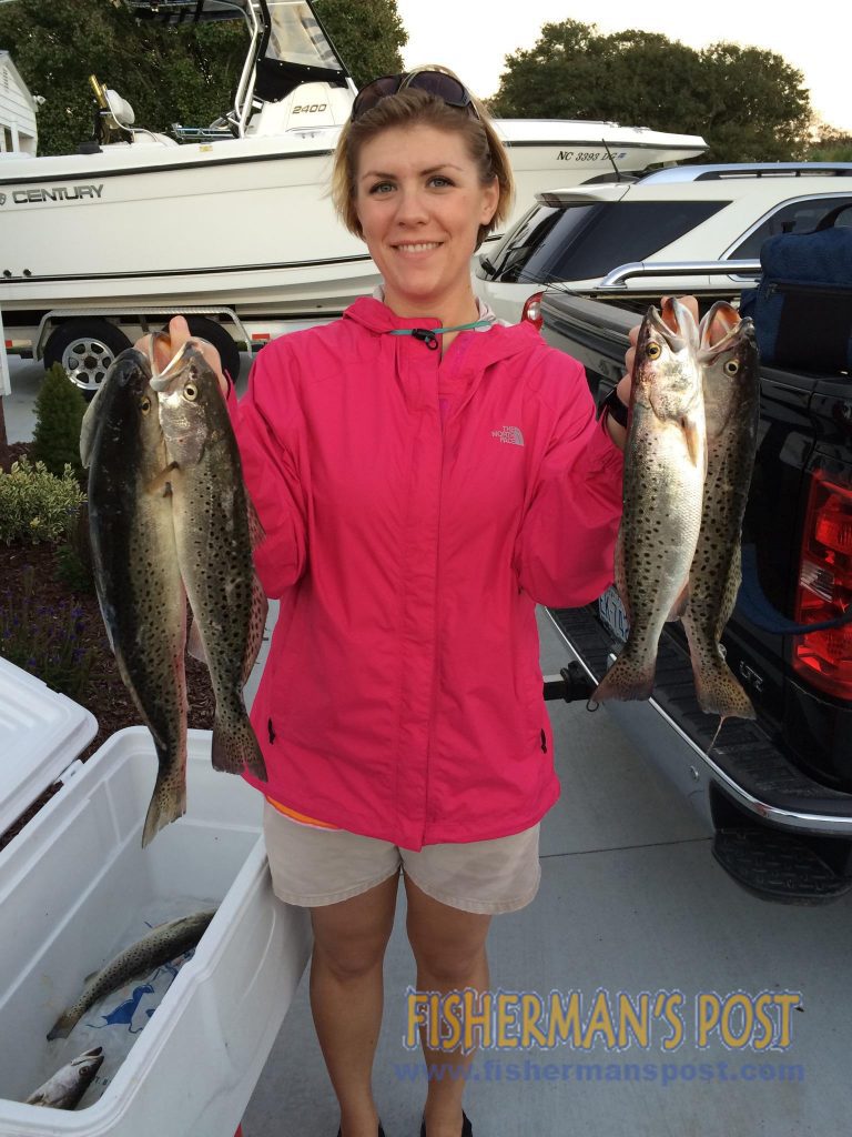
[[[621,509],[578,363],[531,325],[443,358],[389,334],[436,326],[358,300],[231,397],[281,599],[251,714],[269,781],[247,779],[409,849],[520,832],[558,798],[535,603],[607,588]]]

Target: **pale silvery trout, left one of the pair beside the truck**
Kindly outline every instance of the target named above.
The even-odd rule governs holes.
[[[674,299],[662,313],[649,308],[632,375],[616,546],[616,586],[630,631],[593,702],[650,697],[663,624],[686,605],[707,471],[696,349],[698,327],[688,308]]]

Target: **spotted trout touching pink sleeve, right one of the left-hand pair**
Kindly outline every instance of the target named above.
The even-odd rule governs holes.
[[[216,696],[212,764],[266,780],[266,764],[243,703],[260,649],[266,596],[254,574],[260,533],[242,480],[225,399],[215,372],[190,340],[151,380],[169,460],[177,561],[194,616],[190,649],[203,657]]]

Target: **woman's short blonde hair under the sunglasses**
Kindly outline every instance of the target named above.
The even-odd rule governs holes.
[[[440,70],[458,80],[458,75],[449,67],[436,64],[412,70]],[[467,108],[451,107],[427,91],[406,88],[396,94],[386,96],[354,122],[351,118],[346,122],[334,152],[332,201],[337,216],[350,233],[364,236],[356,210],[356,175],[361,147],[383,131],[420,124],[445,131],[448,134],[461,134],[467,152],[479,172],[481,184],[491,185],[495,177],[498,180],[500,186],[498,207],[488,224],[479,226],[476,248],[478,249],[488,233],[507,219],[515,197],[515,180],[509,157],[484,106],[473,96],[471,101],[478,118]]]

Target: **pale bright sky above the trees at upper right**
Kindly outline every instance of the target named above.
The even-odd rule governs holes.
[[[481,98],[493,94],[507,55],[532,48],[542,24],[577,19],[602,33],[661,32],[691,48],[720,40],[777,52],[804,75],[813,110],[852,133],[849,0],[832,6],[783,0],[638,5],[635,0],[396,0],[408,31],[406,66],[440,63]],[[810,15],[809,15],[810,11]],[[629,125],[641,126],[642,123]]]

